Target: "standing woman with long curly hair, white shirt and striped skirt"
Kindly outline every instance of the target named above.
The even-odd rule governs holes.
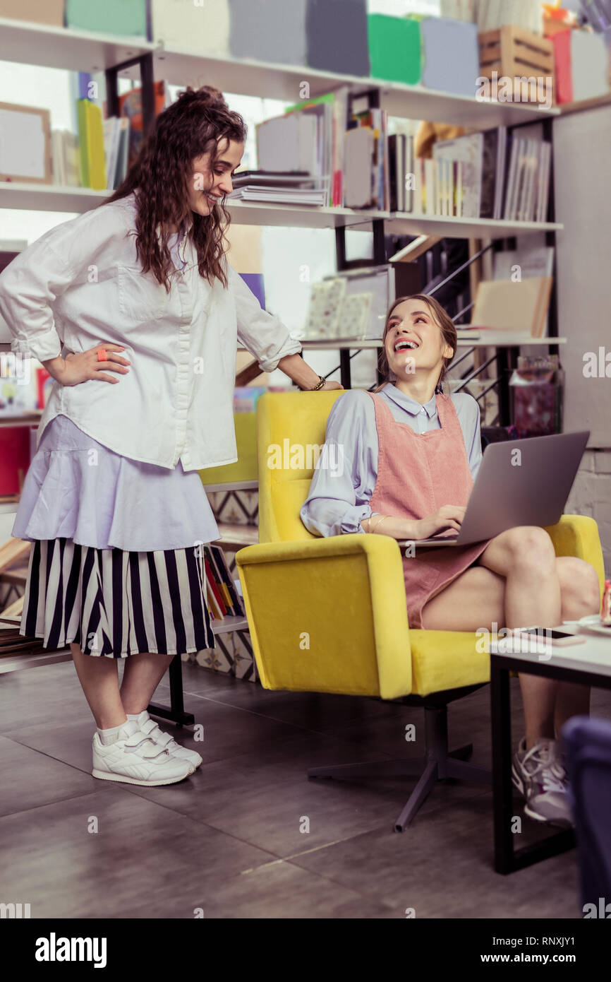
[[[32,542],[20,632],[71,643],[108,781],[173,784],[201,763],[146,707],[175,655],[215,646],[201,543],[220,533],[197,471],[237,460],[237,339],[262,371],[340,388],[227,261],[245,138],[218,89],[187,88],[121,187],[0,276],[13,351],[54,379],[13,527]]]

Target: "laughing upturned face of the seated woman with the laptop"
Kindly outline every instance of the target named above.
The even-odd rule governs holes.
[[[388,319],[384,351],[397,381],[434,372],[438,377],[443,358],[453,355],[425,300],[403,300],[395,306]]]

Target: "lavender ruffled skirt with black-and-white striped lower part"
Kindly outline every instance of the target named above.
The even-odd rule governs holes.
[[[131,461],[56,416],[13,535],[33,543],[20,632],[43,646],[108,658],[215,647],[198,544],[219,529],[197,471]]]

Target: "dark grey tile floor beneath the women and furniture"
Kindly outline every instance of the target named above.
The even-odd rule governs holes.
[[[494,873],[484,786],[438,784],[398,835],[412,779],[306,779],[316,765],[418,755],[404,734],[408,723],[422,732],[421,710],[270,692],[186,665],[183,681],[204,739],[162,726],[204,763],[145,789],[91,777],[93,725],[72,663],[0,676],[0,900],[62,918],[191,918],[200,907],[213,918],[581,916],[575,850]],[[169,702],[166,684],[155,699]],[[488,699],[484,686],[449,714],[451,745],[473,742],[484,767]],[[611,718],[611,694],[594,691],[592,712]],[[524,841],[540,834],[527,819]]]

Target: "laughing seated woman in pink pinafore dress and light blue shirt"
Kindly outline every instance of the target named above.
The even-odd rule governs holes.
[[[460,528],[482,445],[475,399],[442,393],[456,344],[456,328],[436,300],[394,301],[382,336],[384,382],[375,393],[346,392],[331,409],[327,460],[343,467],[315,471],[300,511],[309,531],[418,541]],[[535,526],[470,546],[416,548],[403,569],[410,627],[552,627],[599,609],[594,568],[557,558],[547,532]],[[520,687],[526,735],[514,754],[514,784],[526,814],[569,824],[558,737],[566,720],[588,713],[589,689],[524,674]]]

